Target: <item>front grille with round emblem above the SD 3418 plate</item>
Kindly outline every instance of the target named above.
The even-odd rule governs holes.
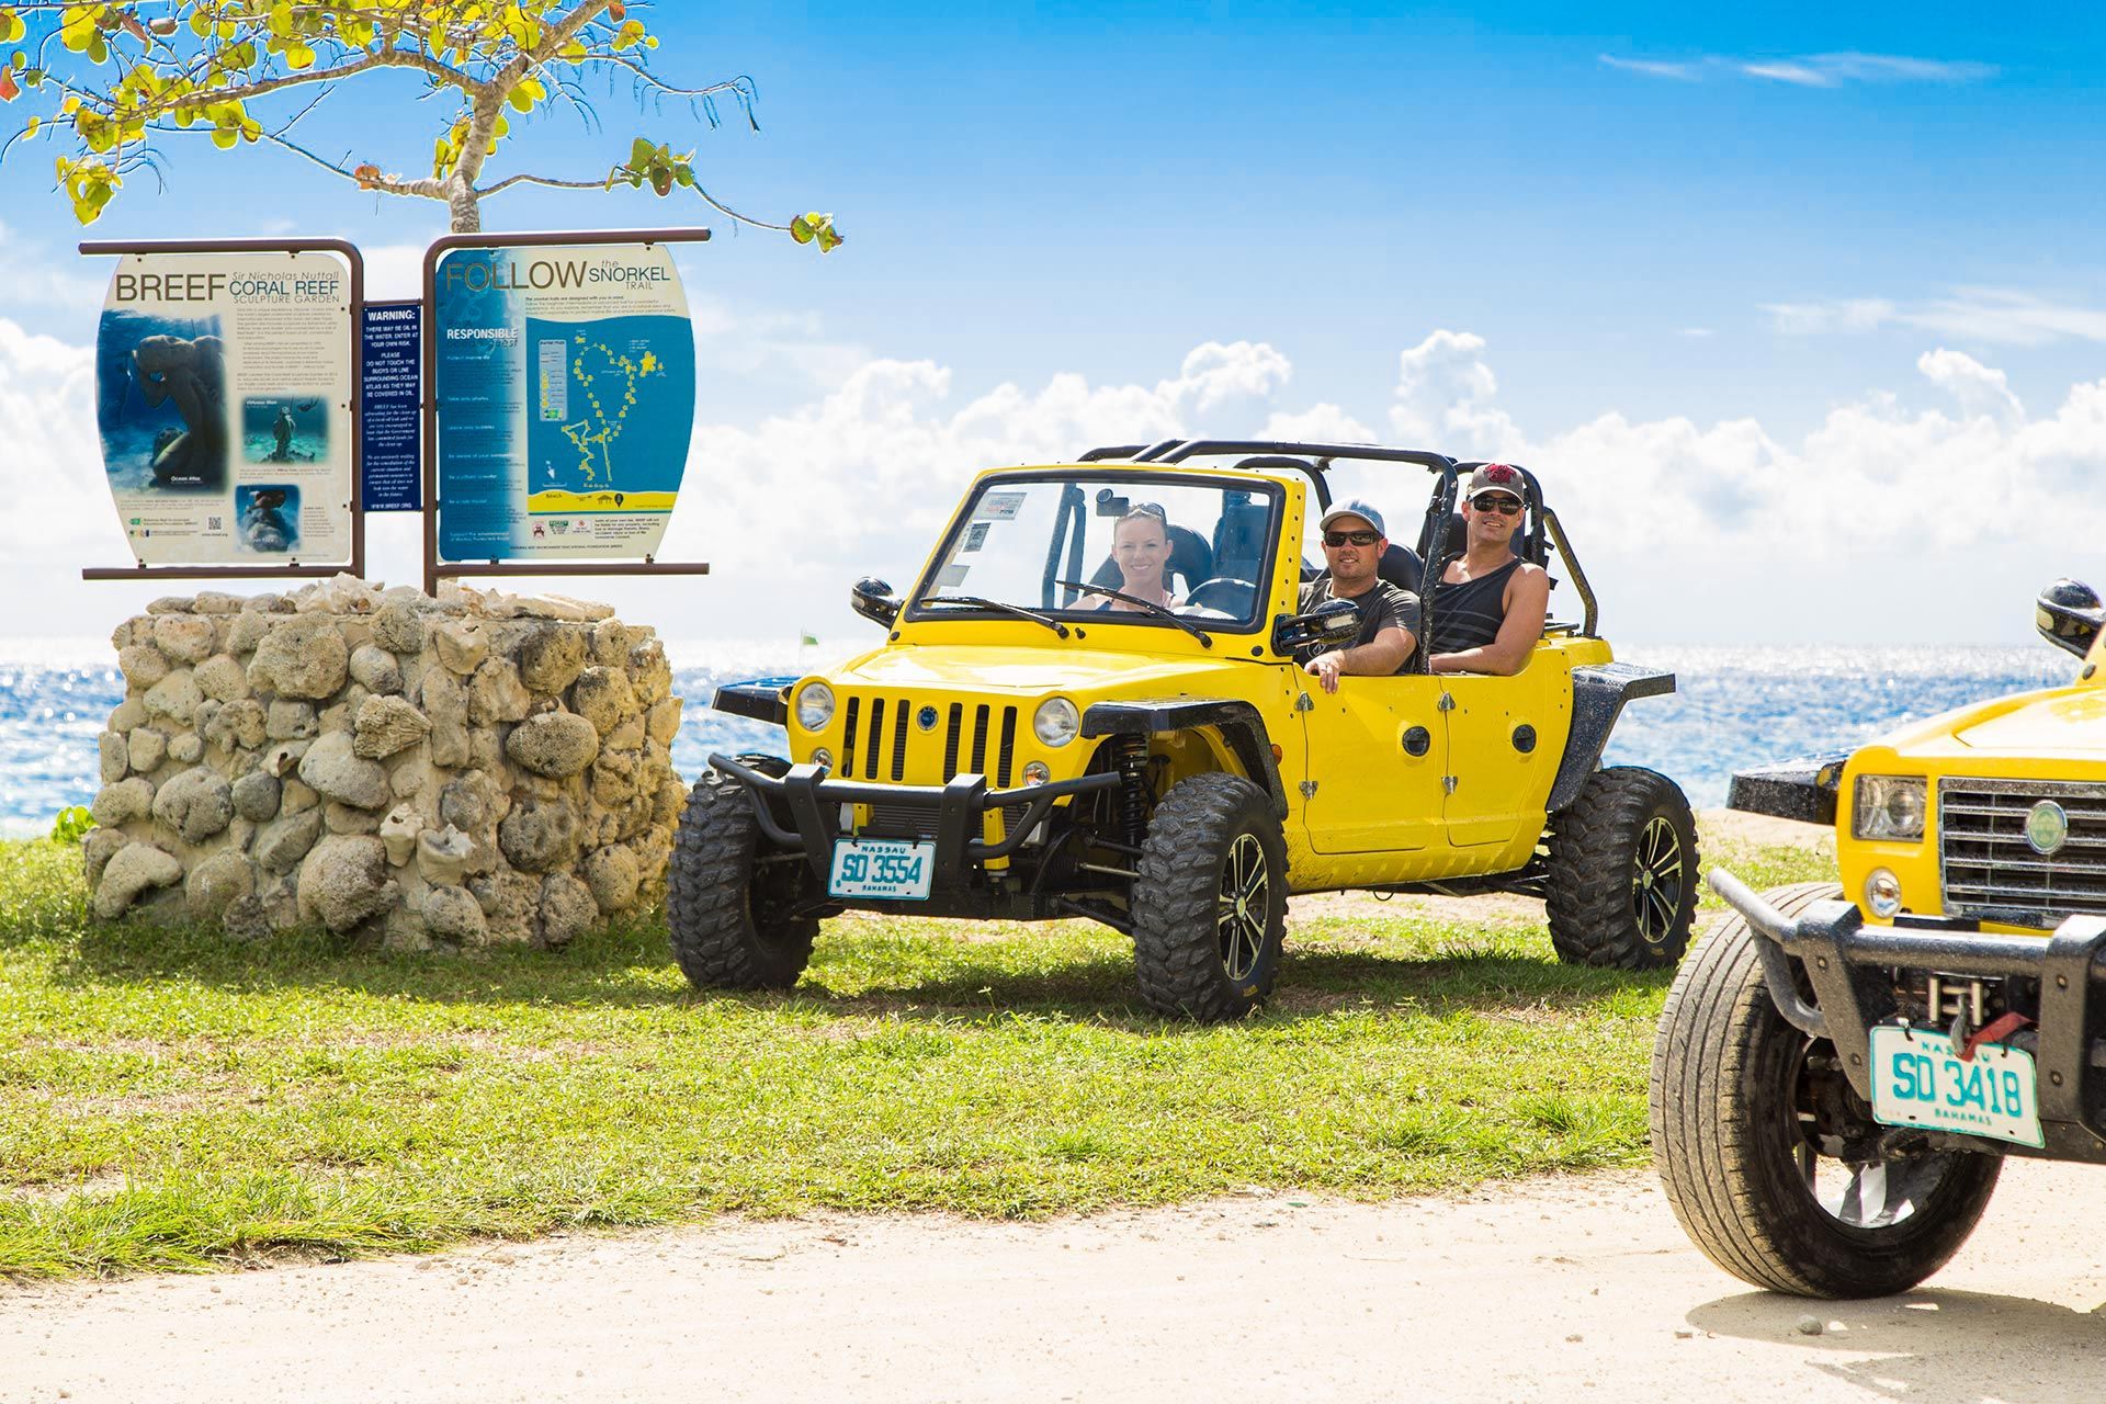
[[[2041,800],[2070,817],[2053,857],[2026,842]],[[1946,916],[2047,930],[2079,911],[2106,914],[2106,785],[1938,781],[1938,871]]]

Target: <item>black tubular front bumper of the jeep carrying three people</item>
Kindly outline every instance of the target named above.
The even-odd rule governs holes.
[[[746,785],[746,798],[754,804],[760,831],[783,848],[802,848],[811,871],[826,886],[834,867],[834,842],[840,834],[842,804],[887,804],[906,808],[927,808],[935,815],[935,886],[958,886],[965,874],[988,859],[1007,859],[1024,846],[1024,840],[1053,808],[1061,796],[1093,794],[1120,783],[1116,775],[1082,775],[1072,781],[1051,781],[1047,785],[1021,785],[1017,789],[988,789],[986,775],[960,775],[946,785],[866,785],[861,781],[830,781],[819,766],[790,766],[781,779],[762,775],[752,766],[741,766],[729,756],[710,756],[710,766]],[[775,817],[771,800],[781,800],[790,810],[792,827]],[[981,819],[990,808],[1024,804],[1019,819],[998,844],[986,842]]]

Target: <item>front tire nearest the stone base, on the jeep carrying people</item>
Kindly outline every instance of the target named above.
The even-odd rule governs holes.
[[[758,834],[737,781],[712,770],[689,789],[665,878],[665,926],[695,989],[790,989],[811,960],[819,920],[783,916],[804,867],[756,869]]]

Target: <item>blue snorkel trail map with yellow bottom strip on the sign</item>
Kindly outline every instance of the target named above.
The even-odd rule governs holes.
[[[678,318],[529,318],[529,512],[670,512],[687,467],[693,339]],[[678,392],[678,394],[676,394]]]

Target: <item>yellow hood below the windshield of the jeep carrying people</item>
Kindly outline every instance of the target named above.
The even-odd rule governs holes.
[[[1064,693],[1087,705],[1099,697],[1213,697],[1224,665],[1259,665],[1251,657],[1224,657],[1224,640],[1205,657],[1160,657],[1089,646],[1002,648],[939,644],[880,648],[823,674],[836,688],[897,688],[906,693],[969,693],[1049,697]],[[1245,642],[1245,640],[1236,640]],[[1245,642],[1245,653],[1249,644]],[[1274,663],[1276,667],[1276,663]]]

